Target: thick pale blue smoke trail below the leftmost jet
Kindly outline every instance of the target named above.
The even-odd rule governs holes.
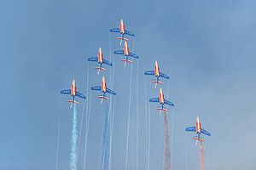
[[[77,105],[73,104],[73,128],[72,128],[72,139],[71,139],[71,151],[70,151],[70,169],[77,170],[78,161],[78,113]]]

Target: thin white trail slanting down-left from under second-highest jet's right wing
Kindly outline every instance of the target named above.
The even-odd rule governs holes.
[[[132,59],[133,60],[133,59]],[[129,136],[130,136],[130,115],[131,115],[131,78],[132,78],[132,67],[131,65],[131,76],[130,76],[130,93],[128,103],[128,118],[127,118],[127,136],[126,136],[126,155],[125,155],[125,170],[128,168],[128,149],[129,149]]]

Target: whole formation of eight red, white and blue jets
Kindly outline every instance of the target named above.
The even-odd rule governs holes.
[[[130,49],[128,48],[128,44],[127,44],[128,38],[125,37],[125,35],[130,37],[135,37],[135,35],[131,31],[125,30],[125,24],[123,20],[120,20],[119,28],[110,29],[110,32],[119,33],[119,36],[117,37],[117,39],[120,40],[120,45],[122,44],[122,41],[125,41],[125,45],[122,50],[115,50],[113,52],[113,54],[121,54],[125,56],[124,59],[121,59],[121,61],[125,62],[124,67],[126,66],[126,63],[130,63],[130,64],[133,63],[130,57],[139,59],[139,56],[137,54],[131,53]],[[88,58],[88,61],[97,62],[95,69],[97,70],[98,75],[100,74],[101,71],[106,71],[106,68],[102,66],[103,64],[113,66],[111,62],[109,62],[107,59],[104,59],[104,56],[102,54],[102,48],[99,48],[97,57],[90,57]],[[158,84],[163,84],[160,78],[165,78],[167,80],[170,79],[168,75],[160,71],[160,66],[158,65],[157,60],[154,63],[154,71],[145,71],[144,74],[148,76],[154,76],[155,79],[152,81],[154,83],[154,88],[156,88]],[[107,88],[107,82],[104,76],[102,77],[101,85],[91,87],[91,90],[100,91],[102,93],[101,95],[98,95],[98,98],[102,99],[101,104],[103,100],[109,100],[107,94],[116,95],[116,93],[112,89]],[[76,96],[79,96],[79,98],[82,98],[82,99],[86,99],[84,94],[81,94],[77,91],[77,87],[74,80],[72,82],[71,88],[67,90],[61,90],[61,94],[71,95],[71,99],[67,100],[67,102],[71,103],[70,107],[72,107],[73,104],[79,104],[79,102],[75,100]],[[166,112],[168,111],[168,109],[164,105],[174,106],[174,104],[171,101],[165,99],[162,88],[160,88],[159,96],[157,98],[149,99],[149,102],[156,102],[160,104],[160,106],[156,108],[157,111],[160,111],[160,114],[162,112],[166,114]],[[187,127],[185,130],[196,133],[196,136],[193,138],[196,140],[195,144],[197,144],[198,141],[201,141],[201,142],[204,141],[201,134],[211,136],[211,133],[201,128],[201,122],[200,122],[199,116],[196,116],[195,127]]]

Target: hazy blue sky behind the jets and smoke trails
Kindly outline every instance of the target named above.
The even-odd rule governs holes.
[[[147,97],[158,91],[143,71],[160,69],[171,76],[167,99],[176,105],[168,114],[172,136],[172,170],[199,167],[199,148],[184,127],[201,116],[212,133],[205,142],[207,169],[256,168],[255,28],[253,1],[5,1],[0,7],[2,111],[0,168],[55,169],[58,116],[61,111],[59,169],[68,169],[72,110],[60,94],[76,79],[88,99],[89,85],[100,82],[94,64],[86,62],[101,46],[120,48],[109,29],[119,19],[134,31],[134,53],[139,59],[139,167],[146,167]],[[111,47],[110,47],[111,42]],[[132,42],[129,42],[131,46]],[[113,169],[125,166],[125,137],[131,66],[115,59],[113,89],[117,92],[113,128]],[[134,64],[137,68],[137,61]],[[131,96],[129,167],[136,162],[136,71]],[[107,81],[109,75],[107,74]],[[87,169],[99,168],[103,107],[92,94]],[[150,105],[150,167],[161,169],[163,116]],[[60,109],[61,108],[61,109]],[[83,113],[79,105],[79,120]],[[173,123],[172,123],[173,115]],[[172,127],[172,129],[171,129]],[[84,152],[84,128],[80,151]],[[187,157],[187,159],[186,159]],[[79,157],[79,169],[82,167]]]

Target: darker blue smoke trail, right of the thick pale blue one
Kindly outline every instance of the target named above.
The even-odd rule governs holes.
[[[104,118],[103,137],[102,137],[102,170],[108,170],[109,157],[109,112],[106,104],[106,113]]]

